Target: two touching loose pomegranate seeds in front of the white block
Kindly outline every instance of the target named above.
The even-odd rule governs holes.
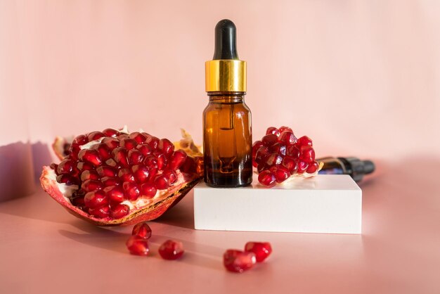
[[[223,255],[223,264],[228,271],[242,273],[252,269],[257,262],[264,262],[271,253],[271,243],[247,242],[244,251],[226,250]]]

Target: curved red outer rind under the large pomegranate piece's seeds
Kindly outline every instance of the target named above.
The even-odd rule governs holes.
[[[186,181],[183,184],[174,186],[172,190],[169,191],[169,195],[156,202],[151,203],[148,206],[142,207],[138,210],[133,210],[129,212],[129,215],[122,217],[120,219],[111,219],[110,217],[99,219],[89,215],[83,210],[79,209],[75,205],[70,203],[70,200],[64,196],[64,194],[58,188],[56,180],[53,179],[51,174],[53,170],[51,167],[43,167],[43,172],[41,173],[40,183],[41,187],[48,193],[53,200],[56,200],[60,205],[62,205],[67,212],[75,215],[75,217],[79,217],[80,219],[84,219],[86,222],[90,222],[91,224],[95,224],[96,226],[130,226],[133,224],[137,224],[138,222],[147,222],[153,219],[157,219],[164,214],[171,207],[176,205],[183,196],[188,193],[191,188],[193,188],[198,181],[200,181],[200,177],[195,174],[184,174]]]

